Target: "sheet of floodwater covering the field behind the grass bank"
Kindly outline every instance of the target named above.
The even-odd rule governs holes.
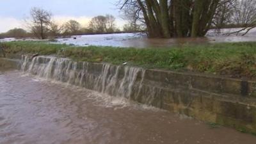
[[[54,44],[68,44],[78,46],[113,46],[113,47],[170,47],[179,44],[208,44],[220,42],[255,42],[256,28],[252,29],[247,35],[225,35],[236,29],[221,29],[220,34],[216,34],[215,30],[210,30],[204,38],[147,38],[143,33],[120,33],[106,35],[79,35],[71,36],[71,38],[58,38]],[[0,41],[13,41],[15,38],[5,38]],[[31,39],[28,39],[31,40]]]

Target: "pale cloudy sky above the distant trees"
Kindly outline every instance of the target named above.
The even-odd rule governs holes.
[[[24,19],[32,7],[44,8],[62,23],[70,19],[86,26],[97,15],[111,14],[117,18],[118,26],[124,24],[115,6],[116,0],[0,0],[0,33],[12,28],[24,28]]]

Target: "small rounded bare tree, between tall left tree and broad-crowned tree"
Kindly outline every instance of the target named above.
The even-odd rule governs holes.
[[[76,20],[69,20],[65,24],[65,33],[70,33],[71,35],[76,35],[81,29],[81,24]]]

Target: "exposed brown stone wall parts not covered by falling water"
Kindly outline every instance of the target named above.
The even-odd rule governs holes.
[[[0,67],[17,68],[18,65],[19,60],[0,59]],[[77,63],[77,71],[82,65],[82,62]],[[88,73],[97,77],[103,67],[102,63],[89,63]],[[111,67],[115,72],[117,66]],[[121,70],[118,79],[122,79],[123,75]],[[84,87],[93,90],[90,84]],[[256,81],[145,70],[144,74],[141,72],[136,77],[130,99],[205,122],[256,133]]]

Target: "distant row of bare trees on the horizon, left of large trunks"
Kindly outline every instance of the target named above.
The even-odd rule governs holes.
[[[132,26],[125,26],[124,31],[116,26],[116,19],[113,15],[99,15],[93,17],[88,27],[83,27],[76,20],[68,20],[65,24],[57,24],[52,20],[52,13],[41,8],[31,8],[29,19],[25,20],[28,31],[21,28],[14,28],[6,33],[1,33],[0,38],[54,38],[58,36],[136,32]]]

